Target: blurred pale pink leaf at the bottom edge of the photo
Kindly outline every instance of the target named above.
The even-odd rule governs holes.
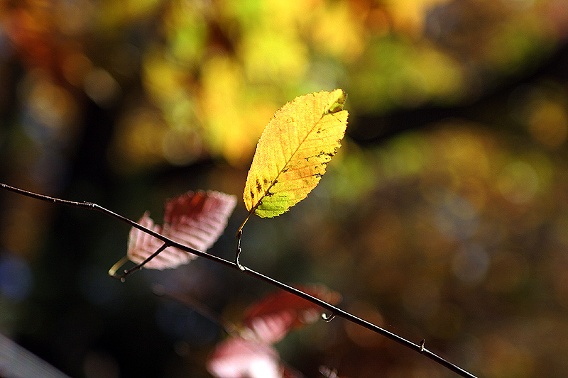
[[[283,377],[277,350],[266,343],[241,337],[219,343],[207,359],[207,370],[220,378]]]

